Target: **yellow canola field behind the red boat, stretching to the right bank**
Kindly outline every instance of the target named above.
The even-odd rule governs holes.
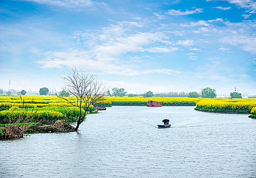
[[[146,106],[147,101],[161,101],[162,106],[196,106],[202,111],[237,111],[236,113],[251,113],[256,115],[256,99],[229,98],[179,98],[179,97],[107,97],[112,105]],[[228,113],[228,112],[227,112]]]

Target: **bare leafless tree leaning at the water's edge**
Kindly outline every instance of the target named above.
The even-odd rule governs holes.
[[[80,109],[80,115],[77,119],[78,130],[80,124],[84,121],[88,108],[99,101],[105,100],[107,93],[106,85],[97,80],[97,75],[90,74],[86,70],[79,71],[76,68],[67,70],[67,76],[64,79],[64,88],[70,94],[69,97],[58,96],[65,100],[70,106]],[[84,111],[83,111],[84,109]]]

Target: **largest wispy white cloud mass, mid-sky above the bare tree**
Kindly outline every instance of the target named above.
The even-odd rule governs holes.
[[[178,50],[168,41],[165,33],[135,33],[133,29],[142,27],[141,23],[121,21],[115,25],[104,27],[94,32],[76,32],[73,38],[80,44],[85,45],[85,49],[66,51],[41,52],[43,59],[37,63],[42,68],[62,68],[65,66],[82,66],[89,70],[101,71],[107,74],[118,75],[139,75],[149,73],[177,73],[173,70],[139,70],[134,56],[129,57],[129,61],[122,57],[127,53],[136,53],[136,57],[145,56],[144,52],[170,53]],[[185,43],[185,42],[184,42]],[[142,55],[139,55],[139,54]]]

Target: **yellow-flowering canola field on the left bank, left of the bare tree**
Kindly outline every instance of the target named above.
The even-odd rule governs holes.
[[[93,110],[94,107],[90,106],[89,111]],[[15,123],[23,116],[31,117],[36,122],[72,122],[77,120],[79,114],[78,107],[70,107],[56,96],[0,96],[0,124]]]

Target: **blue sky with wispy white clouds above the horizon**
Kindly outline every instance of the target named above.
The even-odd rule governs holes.
[[[66,68],[128,93],[256,94],[250,0],[0,2],[0,87],[60,90]]]

